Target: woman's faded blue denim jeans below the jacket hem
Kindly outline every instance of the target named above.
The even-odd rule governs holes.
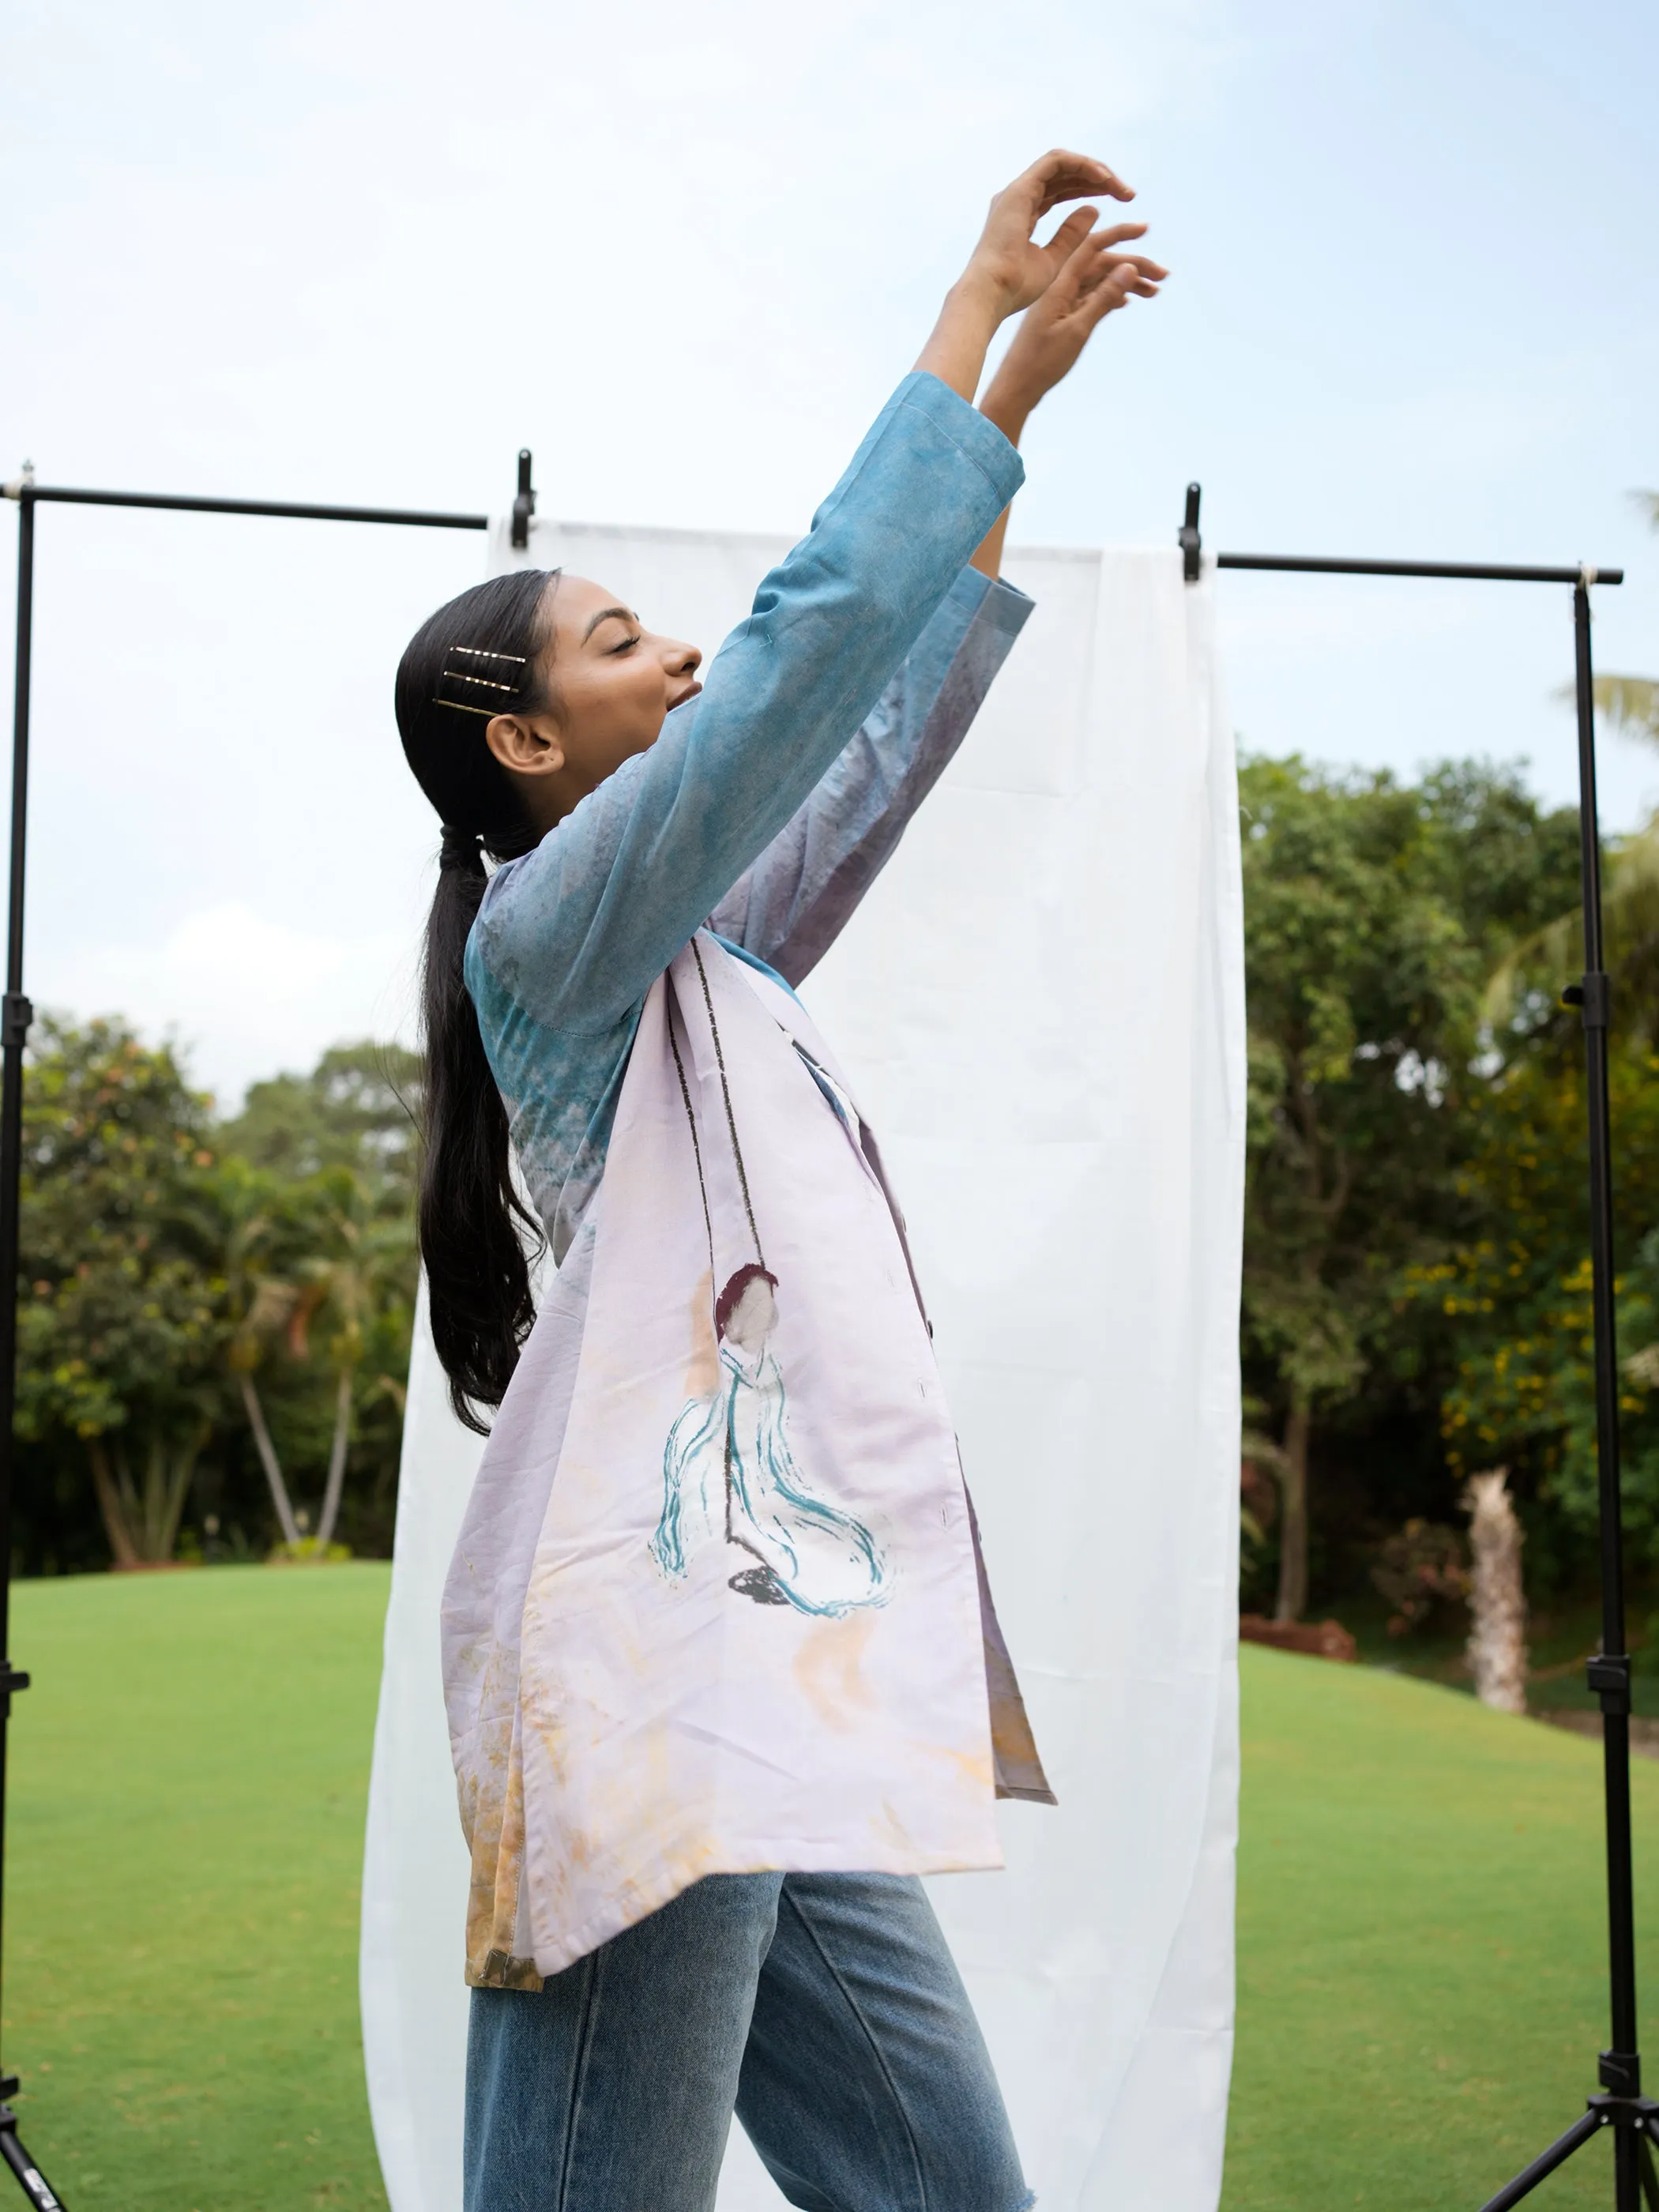
[[[803,2212],[1033,2203],[914,1878],[714,1874],[471,2006],[465,2212],[708,2212],[732,2112]]]

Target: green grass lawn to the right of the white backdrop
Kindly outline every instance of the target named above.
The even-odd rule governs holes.
[[[1225,2212],[1473,2212],[1595,2088],[1601,1745],[1270,1650],[1243,1683]],[[1652,1933],[1659,1765],[1632,1787]],[[1648,1940],[1639,1989],[1657,1966]],[[1535,2199],[1610,2201],[1606,2141]]]

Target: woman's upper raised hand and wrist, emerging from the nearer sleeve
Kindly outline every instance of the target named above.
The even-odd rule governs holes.
[[[1104,161],[1082,153],[1046,153],[998,192],[969,265],[945,296],[933,336],[916,363],[918,369],[938,376],[964,400],[973,398],[998,323],[1048,290],[1095,228],[1097,210],[1077,208],[1046,246],[1035,246],[1031,232],[1051,208],[1084,192],[1135,197]]]

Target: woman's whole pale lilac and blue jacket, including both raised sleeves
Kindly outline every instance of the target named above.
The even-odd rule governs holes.
[[[995,1865],[993,1794],[1048,1798],[902,1219],[792,993],[1029,613],[964,566],[1020,476],[909,376],[701,697],[487,889],[557,1272],[445,1593],[473,1982],[710,1871]]]

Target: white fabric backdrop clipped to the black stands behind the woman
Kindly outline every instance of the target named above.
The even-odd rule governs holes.
[[[538,522],[712,646],[770,538]],[[491,566],[513,555],[498,526]],[[1011,553],[1037,608],[803,989],[880,1133],[1060,1807],[931,1893],[1044,2212],[1214,2212],[1232,2062],[1243,925],[1210,575]],[[425,1318],[425,1316],[422,1316]],[[467,1854],[438,1590],[478,1440],[416,1329],[363,1880],[394,2212],[458,2212]],[[721,2212],[783,2199],[741,2130]]]

